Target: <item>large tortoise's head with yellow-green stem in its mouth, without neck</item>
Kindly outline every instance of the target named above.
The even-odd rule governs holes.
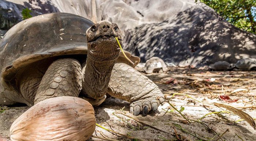
[[[88,55],[94,60],[116,60],[120,54],[115,37],[121,43],[121,30],[117,24],[109,21],[100,21],[86,31]]]

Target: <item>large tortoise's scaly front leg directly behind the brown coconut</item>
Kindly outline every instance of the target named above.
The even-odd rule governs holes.
[[[34,104],[52,97],[78,97],[81,89],[80,63],[75,59],[59,59],[54,61],[45,72],[35,94]]]

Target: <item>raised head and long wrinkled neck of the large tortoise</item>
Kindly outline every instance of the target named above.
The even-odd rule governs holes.
[[[88,97],[99,100],[107,92],[111,71],[120,55],[120,48],[114,37],[121,39],[116,24],[100,21],[86,31],[88,53],[82,87]]]

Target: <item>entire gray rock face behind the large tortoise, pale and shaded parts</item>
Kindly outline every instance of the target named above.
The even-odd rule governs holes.
[[[256,58],[256,35],[232,26],[194,0],[8,1],[38,13],[67,12],[94,22],[117,23],[124,32],[123,48],[142,62],[156,56],[178,66],[202,67],[217,61]]]

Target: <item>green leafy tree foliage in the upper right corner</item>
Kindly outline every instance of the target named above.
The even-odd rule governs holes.
[[[234,26],[256,34],[256,0],[200,1],[213,8]]]

